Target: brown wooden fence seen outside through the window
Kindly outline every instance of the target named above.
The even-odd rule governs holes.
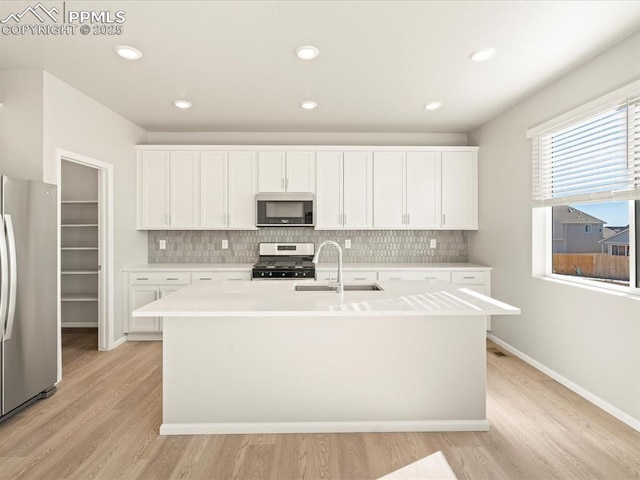
[[[554,253],[553,272],[628,281],[629,257],[606,253]]]

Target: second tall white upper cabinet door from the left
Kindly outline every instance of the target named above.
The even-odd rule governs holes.
[[[171,227],[200,227],[200,152],[171,152]]]

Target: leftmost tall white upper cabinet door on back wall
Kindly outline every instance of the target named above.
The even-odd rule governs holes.
[[[168,228],[169,152],[142,152],[138,161],[138,228]]]

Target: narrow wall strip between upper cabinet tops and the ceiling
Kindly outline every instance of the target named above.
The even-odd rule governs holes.
[[[467,145],[466,133],[149,132],[150,145]]]

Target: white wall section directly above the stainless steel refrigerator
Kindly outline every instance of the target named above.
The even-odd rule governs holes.
[[[0,173],[42,181],[43,72],[0,71]]]

